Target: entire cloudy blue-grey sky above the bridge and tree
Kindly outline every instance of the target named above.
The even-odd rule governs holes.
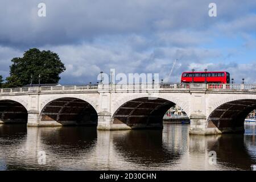
[[[256,1],[0,0],[0,75],[29,48],[59,54],[61,84],[96,82],[100,71],[159,73],[228,71],[256,83]],[[46,4],[46,17],[38,4]],[[208,15],[209,3],[217,17]]]

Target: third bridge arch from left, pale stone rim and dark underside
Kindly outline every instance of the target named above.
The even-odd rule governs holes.
[[[113,106],[112,123],[126,124],[131,128],[163,127],[163,117],[168,109],[174,105],[185,106],[183,102],[170,96],[152,98],[148,94],[131,94],[117,100]],[[184,110],[188,110],[185,107]],[[182,107],[183,109],[183,107]]]

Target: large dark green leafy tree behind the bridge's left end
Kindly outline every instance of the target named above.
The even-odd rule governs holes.
[[[40,51],[31,48],[23,54],[23,57],[14,57],[10,66],[10,76],[6,78],[6,85],[11,87],[27,85],[31,83],[56,84],[60,80],[60,73],[65,71],[57,53],[52,51]]]

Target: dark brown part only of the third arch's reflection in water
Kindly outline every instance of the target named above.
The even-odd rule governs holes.
[[[127,162],[142,166],[171,165],[180,158],[180,148],[172,148],[173,141],[163,143],[161,130],[133,130],[126,135],[113,134],[114,149]],[[171,150],[170,150],[171,149]]]

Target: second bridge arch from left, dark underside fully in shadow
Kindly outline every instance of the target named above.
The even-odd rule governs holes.
[[[97,125],[96,109],[87,101],[77,97],[59,97],[44,104],[39,122],[60,125]]]

